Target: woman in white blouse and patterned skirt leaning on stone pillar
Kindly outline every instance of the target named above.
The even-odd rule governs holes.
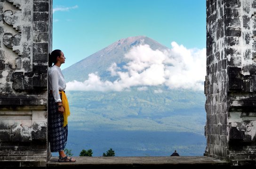
[[[66,82],[60,66],[65,63],[65,56],[59,49],[49,54],[49,94],[48,94],[48,136],[51,152],[59,152],[60,162],[75,162],[68,157],[64,148],[67,143],[69,106],[64,92]],[[54,65],[52,65],[54,64]]]

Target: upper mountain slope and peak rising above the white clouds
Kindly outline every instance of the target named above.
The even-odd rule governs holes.
[[[139,44],[148,44],[153,50],[168,49],[168,47],[145,36],[123,38],[64,69],[63,74],[66,82],[72,80],[83,82],[88,78],[89,73],[95,72],[98,72],[98,76],[100,76],[102,80],[111,80],[112,77],[106,70],[113,62],[119,66],[125,64],[128,60],[124,57],[124,54],[126,54],[133,46]]]

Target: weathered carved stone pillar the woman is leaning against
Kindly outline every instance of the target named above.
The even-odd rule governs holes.
[[[52,0],[0,0],[0,166],[46,166]]]

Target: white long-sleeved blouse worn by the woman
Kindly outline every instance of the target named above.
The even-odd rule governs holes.
[[[61,69],[53,65],[49,68],[49,90],[52,90],[55,102],[61,102],[59,91],[66,89],[66,82]]]

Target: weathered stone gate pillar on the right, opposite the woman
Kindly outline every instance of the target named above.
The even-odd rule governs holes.
[[[256,0],[207,0],[206,156],[256,162]]]

